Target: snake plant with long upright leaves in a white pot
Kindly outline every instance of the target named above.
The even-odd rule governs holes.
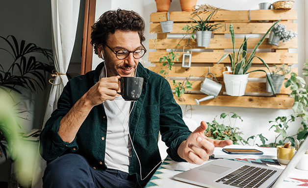
[[[268,65],[258,56],[255,56],[257,48],[262,44],[262,42],[265,39],[265,36],[270,32],[270,30],[273,28],[274,25],[276,25],[281,20],[275,22],[264,34],[264,36],[259,40],[257,45],[252,50],[250,56],[247,59],[247,39],[244,38],[243,44],[240,46],[239,51],[237,55],[235,54],[235,47],[234,47],[234,29],[233,25],[230,24],[229,26],[229,32],[231,34],[231,42],[233,46],[233,53],[225,53],[221,59],[218,61],[220,63],[223,59],[225,59],[227,56],[229,56],[231,61],[231,70],[224,71],[224,83],[226,87],[226,93],[231,96],[242,96],[245,94],[246,84],[248,81],[248,75],[250,72],[255,71],[263,71],[264,70],[255,70],[255,71],[248,71],[249,68],[252,65],[252,60],[257,57],[263,65],[267,68],[267,70],[270,72]],[[273,87],[273,83],[270,80],[269,76],[266,74],[266,79],[268,80],[273,93],[275,94],[275,89]]]

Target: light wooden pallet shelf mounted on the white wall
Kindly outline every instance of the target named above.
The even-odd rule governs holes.
[[[201,18],[206,18],[210,12],[199,13]],[[169,83],[174,90],[172,80],[183,81],[190,80],[193,84],[193,89],[181,95],[181,97],[175,96],[176,101],[179,104],[191,104],[194,105],[195,99],[201,99],[206,95],[200,92],[202,80],[205,79],[205,74],[208,70],[213,73],[220,83],[223,84],[223,71],[227,71],[226,66],[230,66],[229,58],[224,59],[220,64],[217,64],[225,51],[230,51],[232,43],[229,34],[229,25],[232,23],[235,34],[249,34],[252,35],[247,41],[247,48],[252,49],[256,46],[260,37],[266,33],[273,22],[282,19],[280,24],[285,24],[287,29],[297,31],[297,24],[293,23],[293,20],[297,19],[296,10],[243,10],[243,11],[228,11],[220,10],[212,17],[213,23],[221,23],[223,26],[213,32],[213,38],[210,40],[209,47],[197,47],[196,41],[190,40],[190,45],[193,49],[199,48],[198,52],[192,53],[192,67],[185,69],[180,67],[182,60],[182,47],[187,44],[187,40],[168,38],[167,33],[162,33],[160,23],[166,21],[167,14],[164,12],[152,13],[150,15],[150,33],[156,33],[156,39],[149,40],[149,48],[156,49],[156,51],[149,52],[149,61],[155,64],[155,67],[149,67],[150,70],[159,73],[161,70],[167,70],[162,63],[159,62],[159,58],[168,55],[170,49],[180,49],[178,56],[179,62],[175,62],[171,71],[168,71]],[[192,24],[189,18],[198,18],[192,12],[170,12],[170,20],[174,21],[173,32],[185,34],[182,28],[187,24]],[[259,22],[269,21],[269,22]],[[189,35],[191,35],[189,33]],[[235,48],[239,48],[244,40],[244,35],[237,35],[235,38]],[[297,38],[286,42],[280,43],[279,46],[272,46],[267,44],[266,38],[262,45],[258,48],[260,51],[256,53],[257,56],[262,58],[270,66],[270,70],[274,65],[286,64],[292,66],[297,64],[298,54],[289,51],[289,48],[297,48]],[[250,53],[248,53],[249,56]],[[249,71],[262,69],[267,71],[262,62],[254,58],[253,66]],[[298,72],[297,68],[292,68],[293,72]],[[290,75],[286,75],[285,80]],[[290,90],[282,86],[280,94],[272,96],[265,91],[265,73],[264,72],[252,72],[249,74],[249,81],[246,87],[244,96],[229,96],[225,95],[225,87],[223,88],[217,98],[206,100],[200,103],[200,105],[208,106],[233,106],[233,107],[250,107],[250,108],[278,108],[288,109],[292,107],[294,102],[293,98],[289,97]],[[257,81],[256,81],[257,80]]]

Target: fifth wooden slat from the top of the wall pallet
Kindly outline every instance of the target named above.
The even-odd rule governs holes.
[[[159,72],[160,70],[166,70],[166,67],[148,67],[149,70],[154,72]],[[267,71],[265,67],[251,67],[249,71],[254,70],[264,70]],[[272,71],[273,68],[270,67],[270,70]],[[213,73],[217,78],[223,78],[223,71],[227,71],[225,67],[210,67],[210,72]],[[292,72],[297,73],[298,68],[291,68]],[[182,67],[172,67],[172,70],[169,71],[168,76],[169,77],[205,77],[205,74],[208,72],[208,67],[191,67],[188,70],[182,68]],[[257,72],[251,72],[249,73],[250,78],[265,78],[265,73],[262,71]],[[290,74],[287,74],[285,78],[290,78]]]

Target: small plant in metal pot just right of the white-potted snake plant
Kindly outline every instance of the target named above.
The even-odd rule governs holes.
[[[285,67],[284,64],[279,66],[274,66],[274,70],[272,72],[267,72],[267,76],[272,80],[275,93],[279,94],[285,75],[288,74],[291,71],[291,68]],[[266,80],[266,92],[273,93],[272,88],[269,84],[269,82]]]

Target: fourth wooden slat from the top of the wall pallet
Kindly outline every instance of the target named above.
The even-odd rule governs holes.
[[[179,60],[182,59],[182,52],[177,52],[180,54]],[[191,56],[192,63],[217,63],[225,52],[193,52]],[[162,52],[149,52],[148,60],[150,62],[158,62],[159,58],[164,55],[168,55],[169,52],[163,54]],[[248,53],[247,57],[249,57]],[[262,52],[256,53],[256,56],[263,59],[267,64],[297,64],[297,53],[278,53],[278,52]],[[253,64],[262,64],[258,58],[253,59]],[[181,62],[175,62],[181,63]],[[230,59],[225,58],[222,63],[230,63]]]

